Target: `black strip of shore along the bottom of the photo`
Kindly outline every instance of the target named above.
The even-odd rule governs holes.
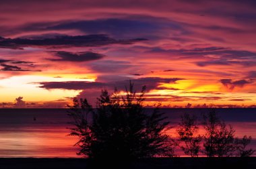
[[[113,160],[115,162],[115,160]],[[113,164],[113,163],[112,163]],[[106,168],[106,163],[102,167]],[[89,168],[87,158],[0,158],[0,168]],[[93,168],[90,167],[90,168]],[[147,158],[132,164],[119,164],[119,168],[256,168],[256,157],[237,158]]]

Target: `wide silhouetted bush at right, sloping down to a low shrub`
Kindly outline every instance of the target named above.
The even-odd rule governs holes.
[[[205,128],[204,153],[209,157],[223,156],[251,156],[255,150],[247,149],[251,142],[251,136],[245,135],[243,139],[234,137],[235,130],[231,125],[226,127],[226,123],[217,117],[213,109],[204,116],[203,122]]]

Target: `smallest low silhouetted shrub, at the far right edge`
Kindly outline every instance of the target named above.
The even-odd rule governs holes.
[[[247,146],[251,143],[251,136],[245,135],[242,139],[236,138],[235,144],[236,144],[236,151],[237,151],[237,156],[240,157],[249,157],[253,155],[255,150],[252,148],[247,149]]]

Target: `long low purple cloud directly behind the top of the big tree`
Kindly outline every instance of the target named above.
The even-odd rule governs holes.
[[[102,78],[100,78],[102,79]],[[98,80],[98,78],[97,78]],[[131,79],[131,82],[134,83],[135,91],[141,91],[141,87],[146,85],[147,91],[152,89],[158,89],[158,86],[162,82],[166,83],[175,83],[178,80],[183,80],[182,78],[159,78],[159,77],[148,77],[148,78],[137,78]],[[100,95],[101,89],[107,89],[109,93],[113,92],[115,87],[119,91],[125,91],[125,87],[129,85],[129,80],[116,80],[108,82],[88,82],[88,81],[67,81],[67,82],[40,82],[40,88],[43,89],[65,89],[65,90],[82,90],[77,97],[84,98],[86,97],[90,103],[94,104],[96,97]],[[151,97],[151,95],[150,95]],[[160,96],[164,101],[164,97]],[[151,99],[148,98],[148,101]],[[156,101],[157,99],[153,99]]]

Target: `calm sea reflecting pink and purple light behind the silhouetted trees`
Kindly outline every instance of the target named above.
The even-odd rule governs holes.
[[[256,150],[256,109],[215,109],[217,115],[235,129],[236,137],[251,135],[249,148]],[[146,109],[149,113],[152,109]],[[183,113],[196,115],[199,121],[211,109],[160,109],[170,121],[168,134],[177,137],[177,125]],[[77,156],[78,141],[70,136],[67,109],[0,109],[0,157],[82,158]],[[203,127],[199,126],[199,133]],[[179,148],[177,155],[185,156]],[[256,154],[253,154],[256,156]]]

